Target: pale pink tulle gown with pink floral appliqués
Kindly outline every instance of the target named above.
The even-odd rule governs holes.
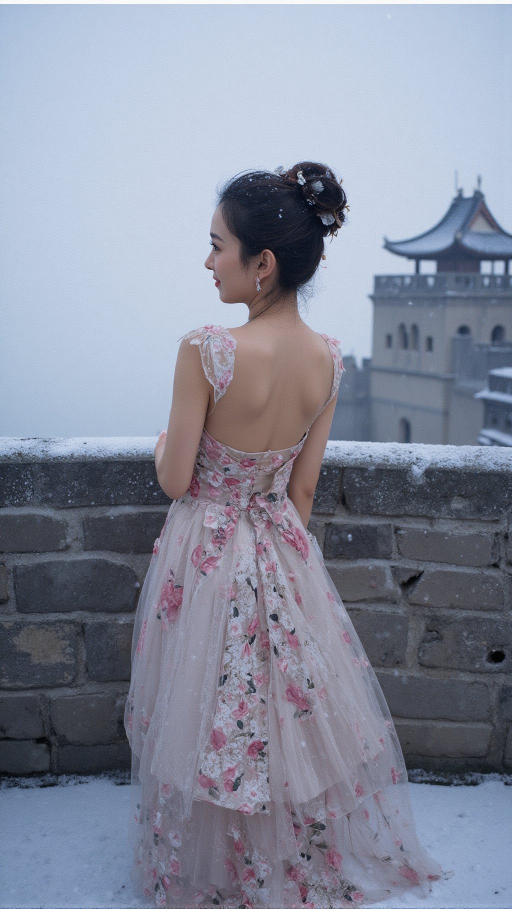
[[[216,402],[236,340],[221,325],[183,336]],[[343,365],[322,337],[330,401]],[[204,429],[154,543],[124,710],[131,874],[148,904],[367,905],[450,874],[418,842],[384,695],[286,493],[307,435],[241,452]]]

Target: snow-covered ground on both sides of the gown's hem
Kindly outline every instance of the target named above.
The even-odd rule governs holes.
[[[409,778],[414,777],[409,772]],[[151,906],[133,893],[126,831],[129,787],[123,774],[64,776],[0,786],[1,909]],[[449,880],[427,899],[395,899],[393,909],[512,907],[512,778],[476,785],[410,783],[422,843]],[[389,907],[389,903],[375,904]]]

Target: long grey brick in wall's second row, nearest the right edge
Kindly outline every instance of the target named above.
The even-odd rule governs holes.
[[[399,554],[423,562],[489,565],[498,558],[497,534],[454,534],[451,531],[399,527]]]

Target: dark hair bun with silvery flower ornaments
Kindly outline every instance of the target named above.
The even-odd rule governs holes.
[[[323,235],[335,236],[345,221],[345,210],[350,211],[342,179],[338,180],[330,167],[315,161],[301,161],[290,170],[280,165],[275,173],[297,185],[312,213],[318,216]]]

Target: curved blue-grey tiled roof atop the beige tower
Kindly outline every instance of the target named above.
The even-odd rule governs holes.
[[[488,225],[487,230],[471,230],[477,220],[478,226],[482,222]],[[458,252],[478,259],[508,259],[512,258],[512,234],[497,224],[483,193],[476,189],[472,196],[465,197],[459,190],[437,225],[409,240],[393,241],[384,237],[384,249],[409,259],[437,259]]]

